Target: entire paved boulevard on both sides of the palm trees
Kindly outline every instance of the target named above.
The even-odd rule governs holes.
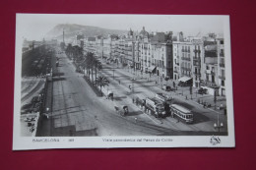
[[[136,78],[127,69],[103,64],[99,75],[108,78],[110,84],[104,90],[112,90],[114,99],[97,96],[84,79],[84,75],[76,73],[76,69],[65,54],[59,57],[59,67],[53,65],[52,100],[48,96],[50,107],[49,119],[44,119],[39,136],[148,136],[148,135],[212,135],[216,134],[214,122],[217,113],[204,109],[190,100],[184,101],[182,96],[173,95],[176,103],[190,107],[195,113],[195,123],[187,125],[167,117],[157,119],[145,114],[132,102],[132,98],[153,97],[157,92],[164,92],[156,82]],[[52,59],[54,63],[55,59]],[[113,73],[114,69],[114,73]],[[132,78],[135,78],[132,81]],[[120,84],[119,84],[120,81]],[[134,86],[134,92],[129,89]],[[51,93],[51,91],[50,91]],[[50,95],[50,94],[49,94]],[[128,105],[129,115],[122,117],[114,107]],[[52,110],[52,111],[51,111]],[[226,127],[226,118],[220,114],[220,120]],[[222,131],[226,132],[226,128]]]

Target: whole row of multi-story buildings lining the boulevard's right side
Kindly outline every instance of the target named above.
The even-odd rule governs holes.
[[[182,32],[140,32],[125,35],[84,37],[79,34],[73,45],[80,45],[98,58],[113,61],[135,71],[161,79],[189,81],[207,88],[210,94],[225,95],[224,38],[215,33],[184,37]],[[218,89],[218,90],[217,90]]]

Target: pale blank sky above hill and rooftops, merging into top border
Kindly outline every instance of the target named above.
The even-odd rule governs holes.
[[[28,40],[42,40],[58,24],[139,31],[145,27],[147,31],[183,31],[185,35],[224,33],[224,16],[17,14],[17,33]]]

